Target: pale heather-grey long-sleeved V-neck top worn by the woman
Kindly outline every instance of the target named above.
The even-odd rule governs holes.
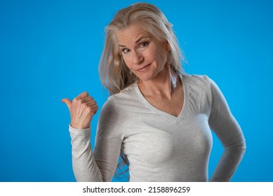
[[[76,181],[112,181],[120,152],[130,162],[130,181],[229,181],[246,144],[218,86],[207,76],[182,75],[184,105],[175,117],[149,104],[133,84],[102,107],[94,151],[90,128],[72,137]],[[225,151],[208,179],[211,130]]]

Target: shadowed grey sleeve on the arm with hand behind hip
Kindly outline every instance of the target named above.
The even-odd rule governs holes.
[[[208,123],[225,148],[210,181],[230,181],[244,156],[246,141],[218,85],[213,80],[209,80],[211,114]]]

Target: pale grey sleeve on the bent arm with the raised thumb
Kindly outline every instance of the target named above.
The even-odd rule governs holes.
[[[94,151],[91,151],[91,129],[76,130],[69,125],[72,138],[72,166],[76,181],[112,181],[121,151],[118,114],[112,102],[100,112]]]

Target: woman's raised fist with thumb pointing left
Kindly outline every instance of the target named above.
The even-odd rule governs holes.
[[[70,113],[70,125],[75,129],[84,130],[90,127],[91,120],[98,111],[97,102],[93,97],[88,97],[88,92],[81,92],[71,101],[70,99],[62,99]]]

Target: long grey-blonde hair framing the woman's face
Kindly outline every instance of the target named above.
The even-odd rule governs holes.
[[[173,32],[173,25],[156,6],[150,3],[134,3],[119,10],[105,29],[105,48],[100,59],[99,72],[100,80],[110,94],[116,94],[138,80],[126,66],[116,38],[117,31],[136,23],[141,23],[148,34],[156,36],[159,40],[168,41],[171,46],[169,63],[173,71],[182,72],[181,64],[184,58]]]

